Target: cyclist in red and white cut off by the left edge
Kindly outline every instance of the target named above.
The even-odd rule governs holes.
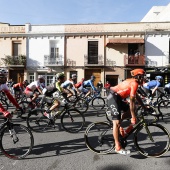
[[[3,91],[6,96],[8,97],[8,99],[10,100],[10,102],[21,111],[21,114],[23,113],[23,109],[19,106],[19,104],[16,102],[16,100],[14,99],[14,97],[12,96],[12,94],[10,93],[10,90],[6,84],[7,81],[7,74],[8,71],[5,69],[0,69],[0,91]],[[3,113],[3,115],[5,117],[12,117],[12,115],[10,114],[10,112],[8,112],[7,110],[5,110],[5,108],[2,106],[2,104],[0,103],[0,112]]]

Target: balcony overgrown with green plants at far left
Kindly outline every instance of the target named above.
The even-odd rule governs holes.
[[[25,67],[26,66],[26,56],[10,56],[6,55],[5,58],[1,58],[2,62],[7,67]]]

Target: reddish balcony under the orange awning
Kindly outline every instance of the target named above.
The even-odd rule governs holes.
[[[125,66],[145,66],[145,56],[125,55],[124,62]]]

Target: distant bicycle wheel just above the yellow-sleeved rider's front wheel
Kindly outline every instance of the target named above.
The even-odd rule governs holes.
[[[89,104],[86,102],[84,98],[80,98],[76,102],[75,108],[78,109],[81,113],[85,113],[89,108]]]

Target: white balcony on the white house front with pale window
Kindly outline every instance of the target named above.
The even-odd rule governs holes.
[[[64,58],[62,55],[44,55],[44,66],[64,66]]]

